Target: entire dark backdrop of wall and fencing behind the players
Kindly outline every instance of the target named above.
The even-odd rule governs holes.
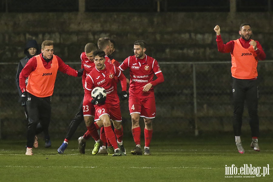
[[[266,61],[258,64],[261,135],[273,130],[271,113],[273,46],[271,0],[0,0],[0,138],[25,137],[27,122],[18,103],[15,75],[25,43],[54,41],[54,54],[80,69],[88,42],[110,37],[120,63],[133,55],[133,43],[145,40],[146,54],[157,59],[165,82],[155,87],[154,133],[202,136],[232,133],[231,56],[217,51],[214,26],[224,43],[238,39],[239,26],[252,26]],[[129,72],[124,72],[129,78]],[[119,87],[120,91],[120,87]],[[81,78],[58,73],[49,132],[65,137],[83,98]],[[121,101],[123,131],[131,133],[128,101]],[[140,122],[143,126],[143,122]],[[250,131],[244,111],[243,135]],[[86,131],[84,121],[74,139]],[[250,135],[247,135],[250,137]]]

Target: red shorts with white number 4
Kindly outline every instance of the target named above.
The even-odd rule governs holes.
[[[133,113],[139,113],[140,117],[145,117],[149,119],[155,118],[156,107],[155,98],[139,98],[136,96],[129,96],[129,111],[130,115]]]

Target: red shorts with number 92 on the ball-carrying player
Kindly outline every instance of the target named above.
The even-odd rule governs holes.
[[[96,110],[96,116],[100,118],[100,116],[107,114],[111,120],[115,120],[118,122],[121,122],[121,112],[120,112],[120,103],[116,105],[110,105],[110,104],[97,104],[95,105]],[[95,118],[96,121],[96,118]]]

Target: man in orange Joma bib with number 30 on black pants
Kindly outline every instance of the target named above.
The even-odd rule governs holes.
[[[25,155],[33,155],[36,126],[40,121],[42,128],[48,128],[51,116],[50,96],[53,94],[57,71],[70,76],[82,76],[83,70],[76,71],[53,54],[53,41],[42,42],[41,54],[29,59],[19,75],[22,97],[29,112],[27,130],[27,149]],[[26,78],[27,86],[25,85]]]

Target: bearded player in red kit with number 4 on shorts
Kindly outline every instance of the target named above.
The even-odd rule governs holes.
[[[129,56],[119,66],[120,70],[130,69],[129,111],[132,119],[132,134],[136,147],[133,155],[142,155],[140,146],[140,117],[143,117],[145,128],[144,155],[150,155],[152,140],[152,119],[156,115],[153,87],[164,82],[163,74],[157,60],[145,54],[146,44],[143,40],[134,43],[134,56]],[[156,75],[157,79],[153,80]]]

